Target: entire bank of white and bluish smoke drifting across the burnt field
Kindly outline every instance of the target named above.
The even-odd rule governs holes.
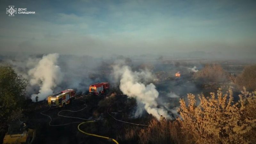
[[[179,97],[186,98],[188,92],[198,91],[193,81],[189,80],[189,71],[197,71],[194,64],[176,66],[172,61],[132,60],[124,56],[98,59],[59,54],[2,58],[29,80],[27,95],[33,101],[37,95],[40,101],[65,89],[86,94],[90,84],[109,82],[112,88],[117,86],[125,95],[136,99],[137,106],[132,117],[140,117],[147,112],[158,119],[160,115],[172,119],[178,115]],[[111,77],[111,70],[114,77]],[[174,77],[177,71],[181,71],[182,77]]]

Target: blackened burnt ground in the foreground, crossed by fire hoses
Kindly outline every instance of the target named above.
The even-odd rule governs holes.
[[[83,100],[83,101],[81,101]],[[84,101],[86,105],[84,105]],[[111,106],[111,107],[110,107]],[[134,143],[136,142],[136,133],[132,133],[131,139],[125,139],[127,130],[140,130],[143,126],[136,126],[116,121],[121,119],[127,122],[147,124],[152,116],[145,116],[144,118],[134,119],[130,118],[133,107],[136,106],[134,99],[128,99],[124,95],[108,94],[105,96],[77,96],[71,104],[65,108],[52,108],[50,110],[47,101],[40,101],[38,103],[28,104],[28,108],[24,111],[25,118],[31,128],[36,129],[35,143],[113,143],[106,139],[97,138],[85,135],[78,131],[79,123],[87,121],[76,118],[65,118],[58,116],[58,112],[63,110],[77,111],[86,107],[79,112],[61,112],[61,115],[69,117],[77,117],[89,120],[95,120],[94,123],[84,124],[80,128],[87,133],[107,136],[118,140],[120,143]],[[108,109],[109,108],[109,109]],[[44,112],[45,110],[48,110]],[[109,114],[108,114],[108,112]],[[65,125],[65,126],[49,126],[50,118],[41,114],[51,116],[51,125]]]

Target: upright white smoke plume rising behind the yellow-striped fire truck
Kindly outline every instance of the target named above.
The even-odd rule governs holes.
[[[44,100],[53,93],[52,89],[62,81],[62,73],[57,65],[58,58],[59,54],[44,55],[35,68],[28,71],[30,85],[40,87],[39,93],[31,96],[33,101],[36,96],[38,96],[38,101]]]

